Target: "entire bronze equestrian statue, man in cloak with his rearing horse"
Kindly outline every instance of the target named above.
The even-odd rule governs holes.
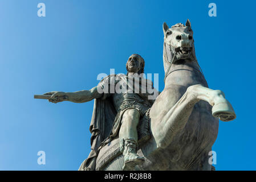
[[[185,25],[177,23],[171,28],[164,23],[162,28],[165,88],[156,100],[147,99],[150,93],[145,93],[146,97],[143,94],[130,97],[129,94],[115,93],[108,97],[109,93],[97,92],[97,88],[116,85],[116,76],[104,78],[97,88],[91,90],[50,92],[46,94],[51,96],[39,96],[52,102],[87,102],[96,98],[90,127],[92,151],[80,166],[81,170],[213,168],[209,163],[209,152],[217,138],[219,119],[231,121],[236,117],[235,112],[221,90],[208,88],[196,59],[190,21],[187,20]],[[131,60],[134,60],[133,64]],[[132,72],[131,76],[143,72],[141,60],[140,56],[131,56],[128,75],[121,78],[129,77],[129,72]],[[122,105],[123,102],[127,104]],[[120,107],[124,109],[120,111]]]

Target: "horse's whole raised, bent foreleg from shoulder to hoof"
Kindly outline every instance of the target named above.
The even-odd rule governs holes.
[[[200,84],[189,86],[180,100],[161,117],[160,121],[152,116],[151,130],[158,147],[167,147],[173,137],[184,129],[194,105],[200,100],[213,106],[214,117],[219,117],[222,121],[231,121],[235,118],[234,110],[221,90],[212,90]]]

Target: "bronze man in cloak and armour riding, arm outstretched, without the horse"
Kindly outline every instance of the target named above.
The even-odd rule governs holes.
[[[145,115],[146,111],[152,106],[153,101],[155,101],[149,100],[148,98],[148,96],[152,96],[152,93],[147,92],[147,84],[152,86],[151,81],[149,82],[149,80],[145,80],[146,85],[143,85],[142,83],[144,81],[144,65],[144,59],[140,55],[133,54],[129,57],[126,64],[126,69],[128,71],[127,75],[109,75],[108,77],[105,77],[98,86],[92,88],[91,90],[82,90],[71,93],[47,92],[44,94],[46,96],[51,96],[50,98],[48,98],[48,100],[54,103],[62,101],[82,103],[91,101],[92,99],[101,100],[97,102],[103,102],[103,100],[109,98],[110,101],[107,102],[107,107],[112,108],[112,111],[110,112],[108,110],[108,113],[115,113],[115,119],[113,119],[113,117],[108,118],[107,115],[103,114],[103,123],[103,120],[96,121],[96,119],[94,119],[93,117],[91,127],[94,128],[95,125],[106,125],[106,120],[109,119],[110,121],[107,123],[113,122],[113,124],[111,123],[111,125],[108,124],[108,127],[113,125],[111,133],[107,138],[106,135],[104,135],[104,137],[101,136],[99,139],[95,137],[94,131],[93,129],[91,129],[92,140],[95,140],[96,144],[92,142],[92,148],[94,148],[94,150],[91,151],[89,158],[86,159],[82,164],[81,167],[83,169],[95,169],[95,157],[97,156],[97,150],[110,142],[116,136],[119,136],[120,150],[123,152],[124,155],[124,170],[133,169],[136,165],[144,162],[144,157],[137,155],[137,125],[140,121],[140,118]],[[137,93],[135,92],[136,80],[139,86],[139,88],[137,88]],[[129,81],[132,84],[131,86],[129,85]],[[116,88],[117,84],[120,91],[122,92],[118,93],[118,90],[116,89],[115,92],[111,93],[111,86]],[[120,86],[123,86],[125,88],[122,89],[120,88]],[[106,90],[107,92],[100,93],[99,90],[104,90],[105,87],[109,88]],[[146,92],[141,92],[143,91],[143,89]],[[98,105],[99,103],[95,103],[95,106]],[[95,110],[97,110],[97,108],[95,108]],[[103,113],[104,111],[106,110],[101,108],[99,113]],[[99,113],[97,114],[99,115]],[[109,131],[101,131],[100,133],[106,132],[109,133]]]

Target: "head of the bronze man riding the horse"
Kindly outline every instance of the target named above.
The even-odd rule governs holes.
[[[139,75],[144,73],[144,66],[144,59],[136,53],[131,55],[126,63],[128,73],[138,73]]]

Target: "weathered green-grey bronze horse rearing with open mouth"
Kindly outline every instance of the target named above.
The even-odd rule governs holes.
[[[211,170],[209,151],[218,134],[218,120],[235,113],[221,90],[212,90],[198,65],[189,20],[164,30],[165,88],[151,107],[152,138],[138,151],[145,162],[137,170]],[[99,156],[117,143],[113,140]],[[98,157],[99,157],[98,156]],[[122,170],[123,155],[104,170]]]

